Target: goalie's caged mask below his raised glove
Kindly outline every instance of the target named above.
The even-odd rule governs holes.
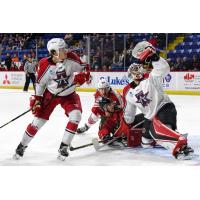
[[[128,77],[136,81],[141,81],[144,78],[143,65],[138,63],[130,65],[128,68]]]

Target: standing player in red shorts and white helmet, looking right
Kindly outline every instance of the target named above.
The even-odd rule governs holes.
[[[50,57],[43,58],[39,62],[36,91],[30,99],[34,119],[27,126],[16,149],[14,155],[16,159],[23,156],[29,142],[49,120],[54,108],[61,105],[69,118],[58,156],[64,160],[68,156],[68,146],[81,120],[82,107],[75,88],[77,85],[90,81],[89,66],[83,63],[76,54],[69,52],[65,41],[61,38],[48,41],[47,49]],[[74,75],[77,72],[78,74]]]

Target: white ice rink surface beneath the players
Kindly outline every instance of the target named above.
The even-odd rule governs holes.
[[[20,90],[0,90],[0,126],[20,115],[29,108],[29,97],[32,92],[24,93]],[[93,93],[79,93],[81,97],[83,115],[80,125],[87,121],[93,105]],[[178,130],[189,133],[188,141],[196,154],[200,154],[199,108],[200,96],[170,95],[178,112]],[[37,133],[29,144],[21,160],[13,160],[12,156],[19,144],[24,130],[32,121],[28,114],[0,129],[0,165],[5,166],[182,166],[200,165],[200,158],[193,160],[175,160],[171,153],[164,149],[102,149],[96,152],[93,146],[71,151],[70,156],[63,162],[57,160],[58,148],[63,136],[68,118],[58,106],[47,124]],[[72,145],[79,146],[91,142],[97,137],[98,123],[83,135],[76,135]]]

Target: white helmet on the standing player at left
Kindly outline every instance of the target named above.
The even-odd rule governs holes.
[[[53,38],[49,40],[47,43],[47,49],[50,54],[52,50],[56,51],[56,53],[59,54],[59,49],[62,49],[62,48],[67,49],[67,44],[62,38]]]

